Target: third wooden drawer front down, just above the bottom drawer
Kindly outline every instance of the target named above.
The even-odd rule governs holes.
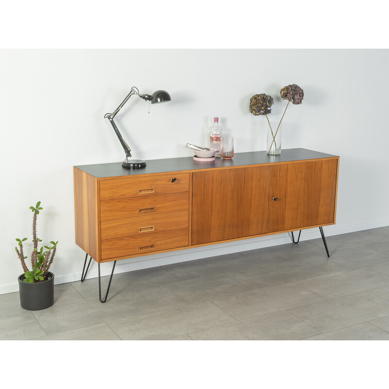
[[[145,213],[125,219],[101,222],[101,239],[144,235],[152,232],[180,230],[189,227],[189,211],[169,213]]]

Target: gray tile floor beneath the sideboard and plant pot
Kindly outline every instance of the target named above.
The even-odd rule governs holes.
[[[0,340],[389,339],[389,226],[327,244],[330,258],[314,239],[115,274],[105,304],[96,278],[55,285],[42,311],[0,295]]]

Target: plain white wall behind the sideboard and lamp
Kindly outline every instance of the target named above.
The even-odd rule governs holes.
[[[134,159],[189,157],[205,144],[212,116],[235,152],[265,150],[265,117],[248,111],[256,93],[273,96],[281,119],[285,85],[304,89],[283,119],[283,148],[340,156],[336,225],[328,236],[389,225],[388,50],[1,50],[0,293],[18,290],[16,237],[31,240],[31,205],[41,200],[38,235],[58,240],[56,283],[80,278],[74,243],[72,166],[118,162],[123,149],[104,119],[132,86],[166,89],[172,102],[132,97],[117,123]],[[301,239],[319,237],[306,230]],[[117,263],[117,272],[290,242],[286,234]],[[31,246],[30,246],[31,247]],[[27,246],[29,248],[29,246]],[[29,251],[29,250],[27,250]],[[102,266],[103,274],[111,265]],[[115,270],[116,271],[116,270]],[[94,264],[88,273],[97,276]]]

